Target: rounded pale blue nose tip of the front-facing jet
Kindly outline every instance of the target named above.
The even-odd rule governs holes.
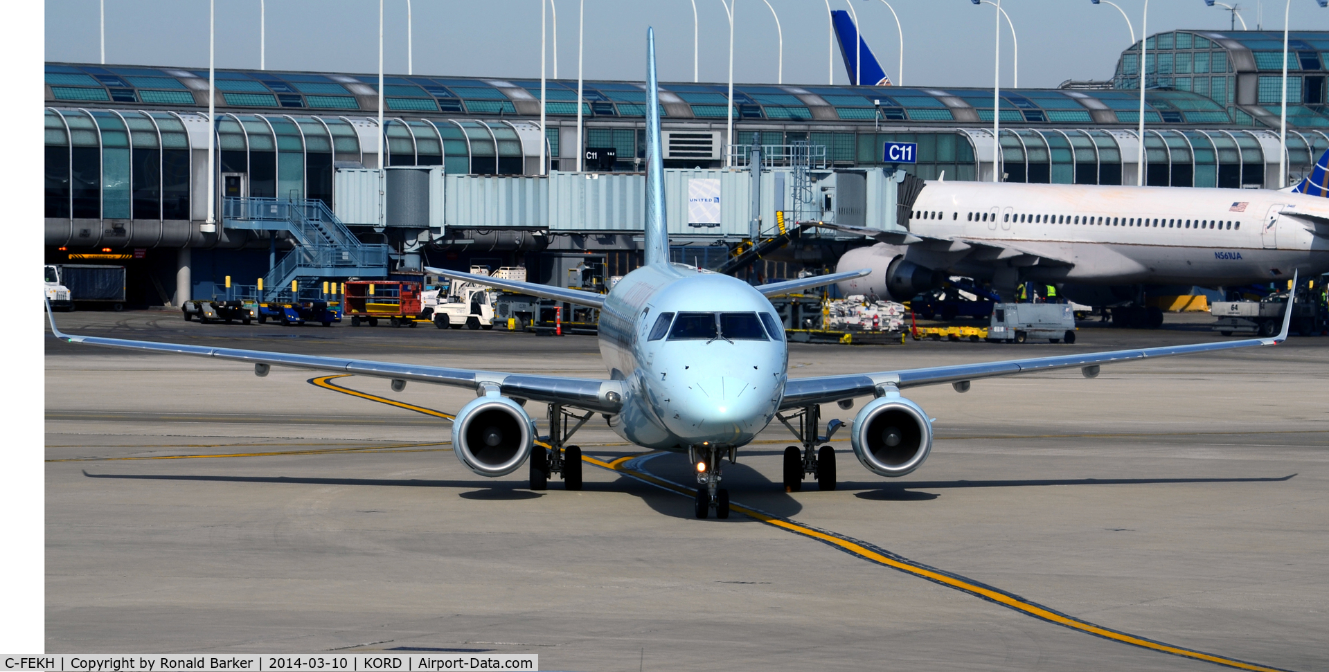
[[[735,442],[748,440],[769,422],[775,409],[775,384],[731,376],[715,376],[687,385],[674,394],[664,418],[670,430],[688,442]]]

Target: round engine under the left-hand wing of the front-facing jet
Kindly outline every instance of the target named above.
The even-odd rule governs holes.
[[[452,421],[452,452],[480,475],[516,471],[534,445],[536,421],[508,397],[478,397],[461,406]]]

